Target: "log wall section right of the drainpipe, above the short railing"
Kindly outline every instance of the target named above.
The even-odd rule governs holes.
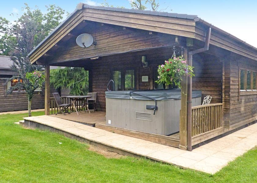
[[[192,89],[202,91],[202,101],[212,96],[211,103],[222,102],[222,63],[215,56],[201,54],[193,57],[195,77]]]

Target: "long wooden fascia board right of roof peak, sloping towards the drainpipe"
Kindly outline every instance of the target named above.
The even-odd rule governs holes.
[[[98,9],[83,9],[83,13],[84,19],[89,21],[195,38],[194,20],[162,17],[166,18],[162,21],[174,19],[173,23],[171,21],[162,22],[161,20],[151,20],[152,17],[160,18],[159,16],[137,15],[135,13],[111,12]],[[179,24],[179,20],[183,20],[184,23]]]

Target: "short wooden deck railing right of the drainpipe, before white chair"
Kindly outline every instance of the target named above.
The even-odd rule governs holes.
[[[192,137],[222,127],[222,103],[192,107]]]

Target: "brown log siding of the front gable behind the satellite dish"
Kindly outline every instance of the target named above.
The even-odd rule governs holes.
[[[95,36],[97,40],[97,45],[88,48],[81,48],[78,45],[60,48],[56,56],[51,59],[50,63],[171,45],[175,42],[175,37],[172,35],[159,33],[149,34],[149,31],[131,28],[124,30],[123,27],[118,26],[103,25],[95,33],[90,28],[87,30],[87,27],[85,27],[84,29],[84,32],[92,32],[92,35]]]

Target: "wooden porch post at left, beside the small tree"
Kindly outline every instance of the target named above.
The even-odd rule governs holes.
[[[45,70],[45,115],[50,114],[50,66]]]

